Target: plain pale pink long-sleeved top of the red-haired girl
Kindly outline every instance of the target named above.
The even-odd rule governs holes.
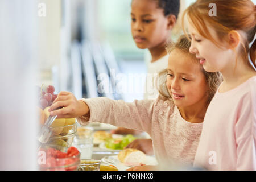
[[[208,106],[194,166],[209,170],[256,170],[256,76]]]

